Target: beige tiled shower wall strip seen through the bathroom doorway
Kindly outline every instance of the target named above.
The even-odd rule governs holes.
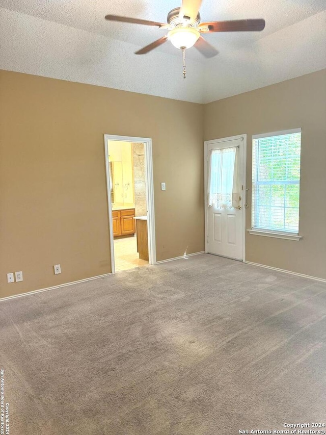
[[[131,143],[136,216],[146,216],[145,150],[143,143]]]

